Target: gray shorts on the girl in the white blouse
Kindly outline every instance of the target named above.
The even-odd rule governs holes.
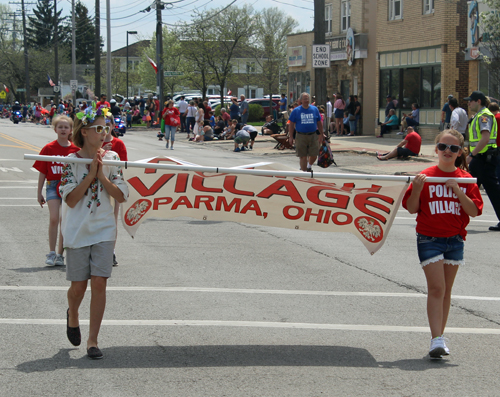
[[[85,281],[90,276],[111,277],[114,241],[88,247],[66,248],[66,280]]]

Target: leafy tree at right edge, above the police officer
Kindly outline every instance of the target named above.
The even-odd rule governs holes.
[[[494,92],[490,96],[500,96],[500,0],[484,0],[491,11],[483,12],[480,16],[480,25],[483,28],[482,47],[489,55],[483,54],[490,72],[490,87]]]

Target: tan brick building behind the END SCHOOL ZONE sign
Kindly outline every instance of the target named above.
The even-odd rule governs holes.
[[[358,95],[362,105],[359,131],[373,134],[376,113],[376,0],[326,0],[326,44],[330,46],[330,67],[326,70],[327,96],[340,92],[344,98]],[[350,36],[352,34],[352,36]],[[349,39],[351,37],[351,40]],[[348,43],[354,47],[348,60]],[[288,36],[288,95],[314,95],[312,45],[314,33]]]

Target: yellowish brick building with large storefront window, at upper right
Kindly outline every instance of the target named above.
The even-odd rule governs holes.
[[[385,119],[386,96],[398,116],[420,106],[420,134],[433,139],[449,94],[468,96],[467,0],[377,0],[377,114]]]

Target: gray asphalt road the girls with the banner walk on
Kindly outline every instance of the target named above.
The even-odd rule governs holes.
[[[130,160],[298,167],[293,155],[232,153],[183,137],[166,151],[155,135],[127,133]],[[496,222],[486,196],[455,282],[449,358],[427,357],[425,278],[414,216],[402,209],[374,256],[341,233],[177,218],[146,221],[132,240],[120,227],[99,341],[105,358],[89,360],[85,343],[66,339],[68,282],[64,269],[44,266],[48,209],[22,160],[53,139],[49,128],[0,120],[0,395],[500,394],[500,235],[488,232]],[[395,168],[371,156],[336,160],[339,169],[326,172]],[[88,309],[89,296],[82,319]],[[87,332],[82,321],[84,340]]]

